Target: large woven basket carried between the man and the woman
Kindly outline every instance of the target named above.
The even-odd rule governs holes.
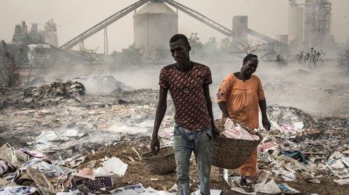
[[[215,121],[215,123],[220,123]],[[220,127],[216,125],[216,127]],[[222,131],[222,130],[220,130]],[[212,141],[211,164],[224,169],[237,169],[251,156],[253,150],[257,148],[263,137],[257,133],[260,139],[246,140],[246,139],[232,139],[216,136]]]

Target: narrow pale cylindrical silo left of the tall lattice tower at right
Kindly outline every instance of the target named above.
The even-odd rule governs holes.
[[[297,40],[303,42],[303,18],[304,8],[290,6],[288,10],[288,41]]]

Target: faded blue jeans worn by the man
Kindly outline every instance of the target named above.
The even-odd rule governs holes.
[[[211,127],[193,131],[174,125],[174,157],[177,164],[177,186],[179,195],[189,195],[189,161],[194,152],[200,176],[200,194],[209,194],[211,172]]]

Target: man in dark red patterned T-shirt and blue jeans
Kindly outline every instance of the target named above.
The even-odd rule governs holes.
[[[209,194],[211,139],[218,132],[214,126],[209,96],[211,70],[206,65],[191,61],[190,50],[186,36],[176,34],[170,39],[170,52],[177,63],[165,66],[160,72],[159,100],[151,150],[157,154],[160,149],[158,129],[165,115],[166,99],[170,90],[175,108],[174,157],[179,194],[190,194],[188,169],[192,152],[200,175],[200,194]]]

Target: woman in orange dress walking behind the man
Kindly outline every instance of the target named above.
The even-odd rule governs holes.
[[[234,72],[221,82],[217,92],[218,106],[223,112],[224,118],[233,118],[244,123],[251,130],[258,129],[258,105],[262,112],[262,125],[266,130],[270,129],[267,118],[267,103],[260,79],[252,75],[257,69],[258,57],[248,54],[242,63],[240,72]],[[257,148],[251,157],[239,167],[242,176],[240,184],[246,191],[253,191],[246,178],[253,178],[257,172]]]

